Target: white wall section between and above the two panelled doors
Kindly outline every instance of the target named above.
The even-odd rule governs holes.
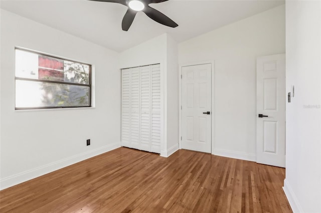
[[[255,160],[256,57],[285,52],[285,5],[179,43],[179,64],[215,60],[212,153]]]

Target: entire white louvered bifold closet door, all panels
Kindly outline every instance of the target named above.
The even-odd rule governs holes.
[[[161,152],[159,64],[121,70],[121,145]]]

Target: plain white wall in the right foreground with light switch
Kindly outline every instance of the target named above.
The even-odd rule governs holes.
[[[286,1],[286,175],[294,212],[321,212],[321,2]]]

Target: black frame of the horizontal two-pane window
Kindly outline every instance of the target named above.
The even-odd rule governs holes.
[[[88,75],[89,75],[89,83],[85,84],[85,83],[73,83],[73,82],[65,82],[65,81],[57,81],[57,80],[35,79],[35,78],[28,78],[28,77],[17,77],[16,76],[16,63],[15,63],[15,110],[92,107],[92,105],[91,105],[91,97],[92,97],[92,94],[91,94],[91,92],[92,92],[92,90],[91,90],[91,88],[92,88],[92,86],[91,86],[91,79],[92,79],[91,68],[92,68],[92,64],[84,63],[84,62],[80,62],[80,61],[77,61],[77,60],[68,59],[68,58],[64,58],[64,57],[60,57],[60,56],[58,57],[58,56],[51,55],[51,54],[48,54],[48,53],[43,53],[43,52],[30,50],[30,49],[26,49],[26,48],[22,48],[22,47],[17,47],[17,46],[15,47],[15,62],[16,62],[16,50],[17,49],[22,50],[22,51],[26,51],[26,52],[35,53],[35,54],[42,55],[42,56],[52,57],[52,58],[59,59],[59,60],[66,60],[66,61],[71,61],[71,62],[75,62],[75,63],[88,65],[89,66],[89,73],[88,73]],[[47,83],[56,83],[56,84],[87,86],[89,88],[89,92],[88,92],[89,105],[16,107],[16,80],[26,80],[26,81],[47,82]]]

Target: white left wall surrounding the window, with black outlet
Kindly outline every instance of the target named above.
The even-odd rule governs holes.
[[[15,111],[15,46],[93,64],[95,108]],[[120,146],[117,57],[114,51],[1,10],[1,188]]]

